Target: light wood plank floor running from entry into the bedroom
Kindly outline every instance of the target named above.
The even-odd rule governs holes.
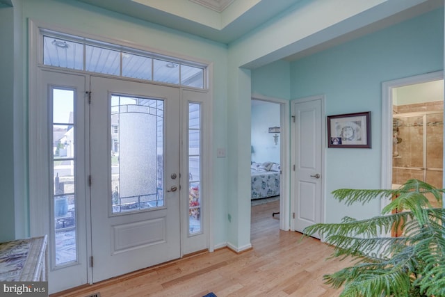
[[[350,263],[326,260],[332,248],[298,232],[279,230],[279,202],[252,207],[251,250],[203,252],[51,297],[223,296],[333,297],[323,274]]]

